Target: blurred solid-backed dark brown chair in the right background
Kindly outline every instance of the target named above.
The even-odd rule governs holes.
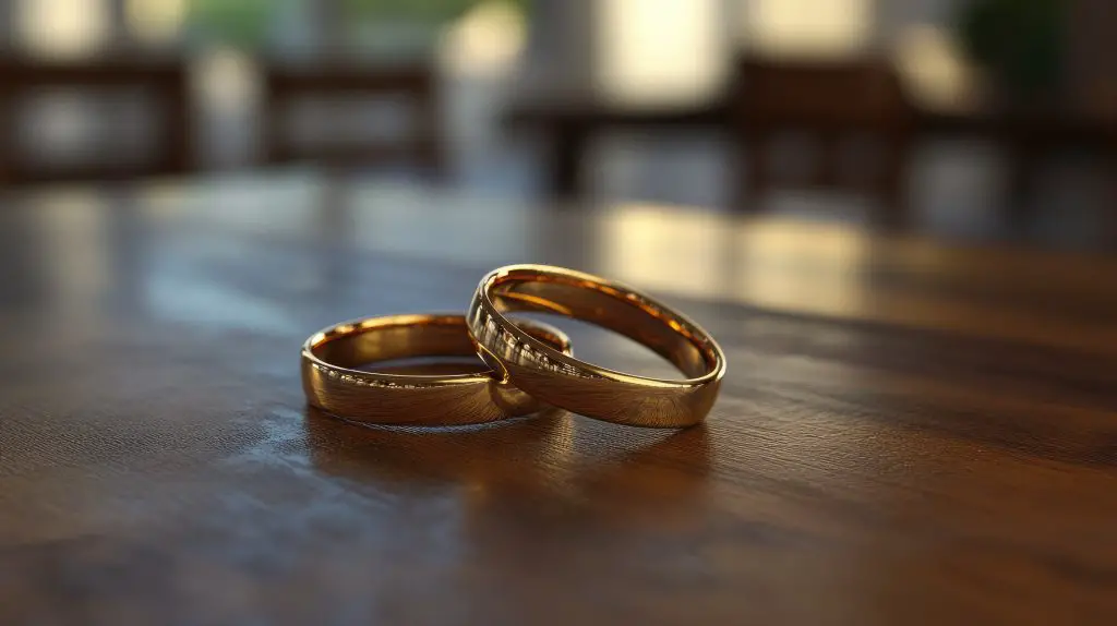
[[[754,206],[776,182],[773,139],[800,132],[819,148],[810,186],[859,189],[879,203],[881,218],[903,219],[914,116],[887,64],[745,58],[731,99],[734,134],[748,164],[747,181],[737,190],[743,206]],[[840,148],[859,136],[873,138],[882,150],[872,175],[850,181],[841,176]]]

